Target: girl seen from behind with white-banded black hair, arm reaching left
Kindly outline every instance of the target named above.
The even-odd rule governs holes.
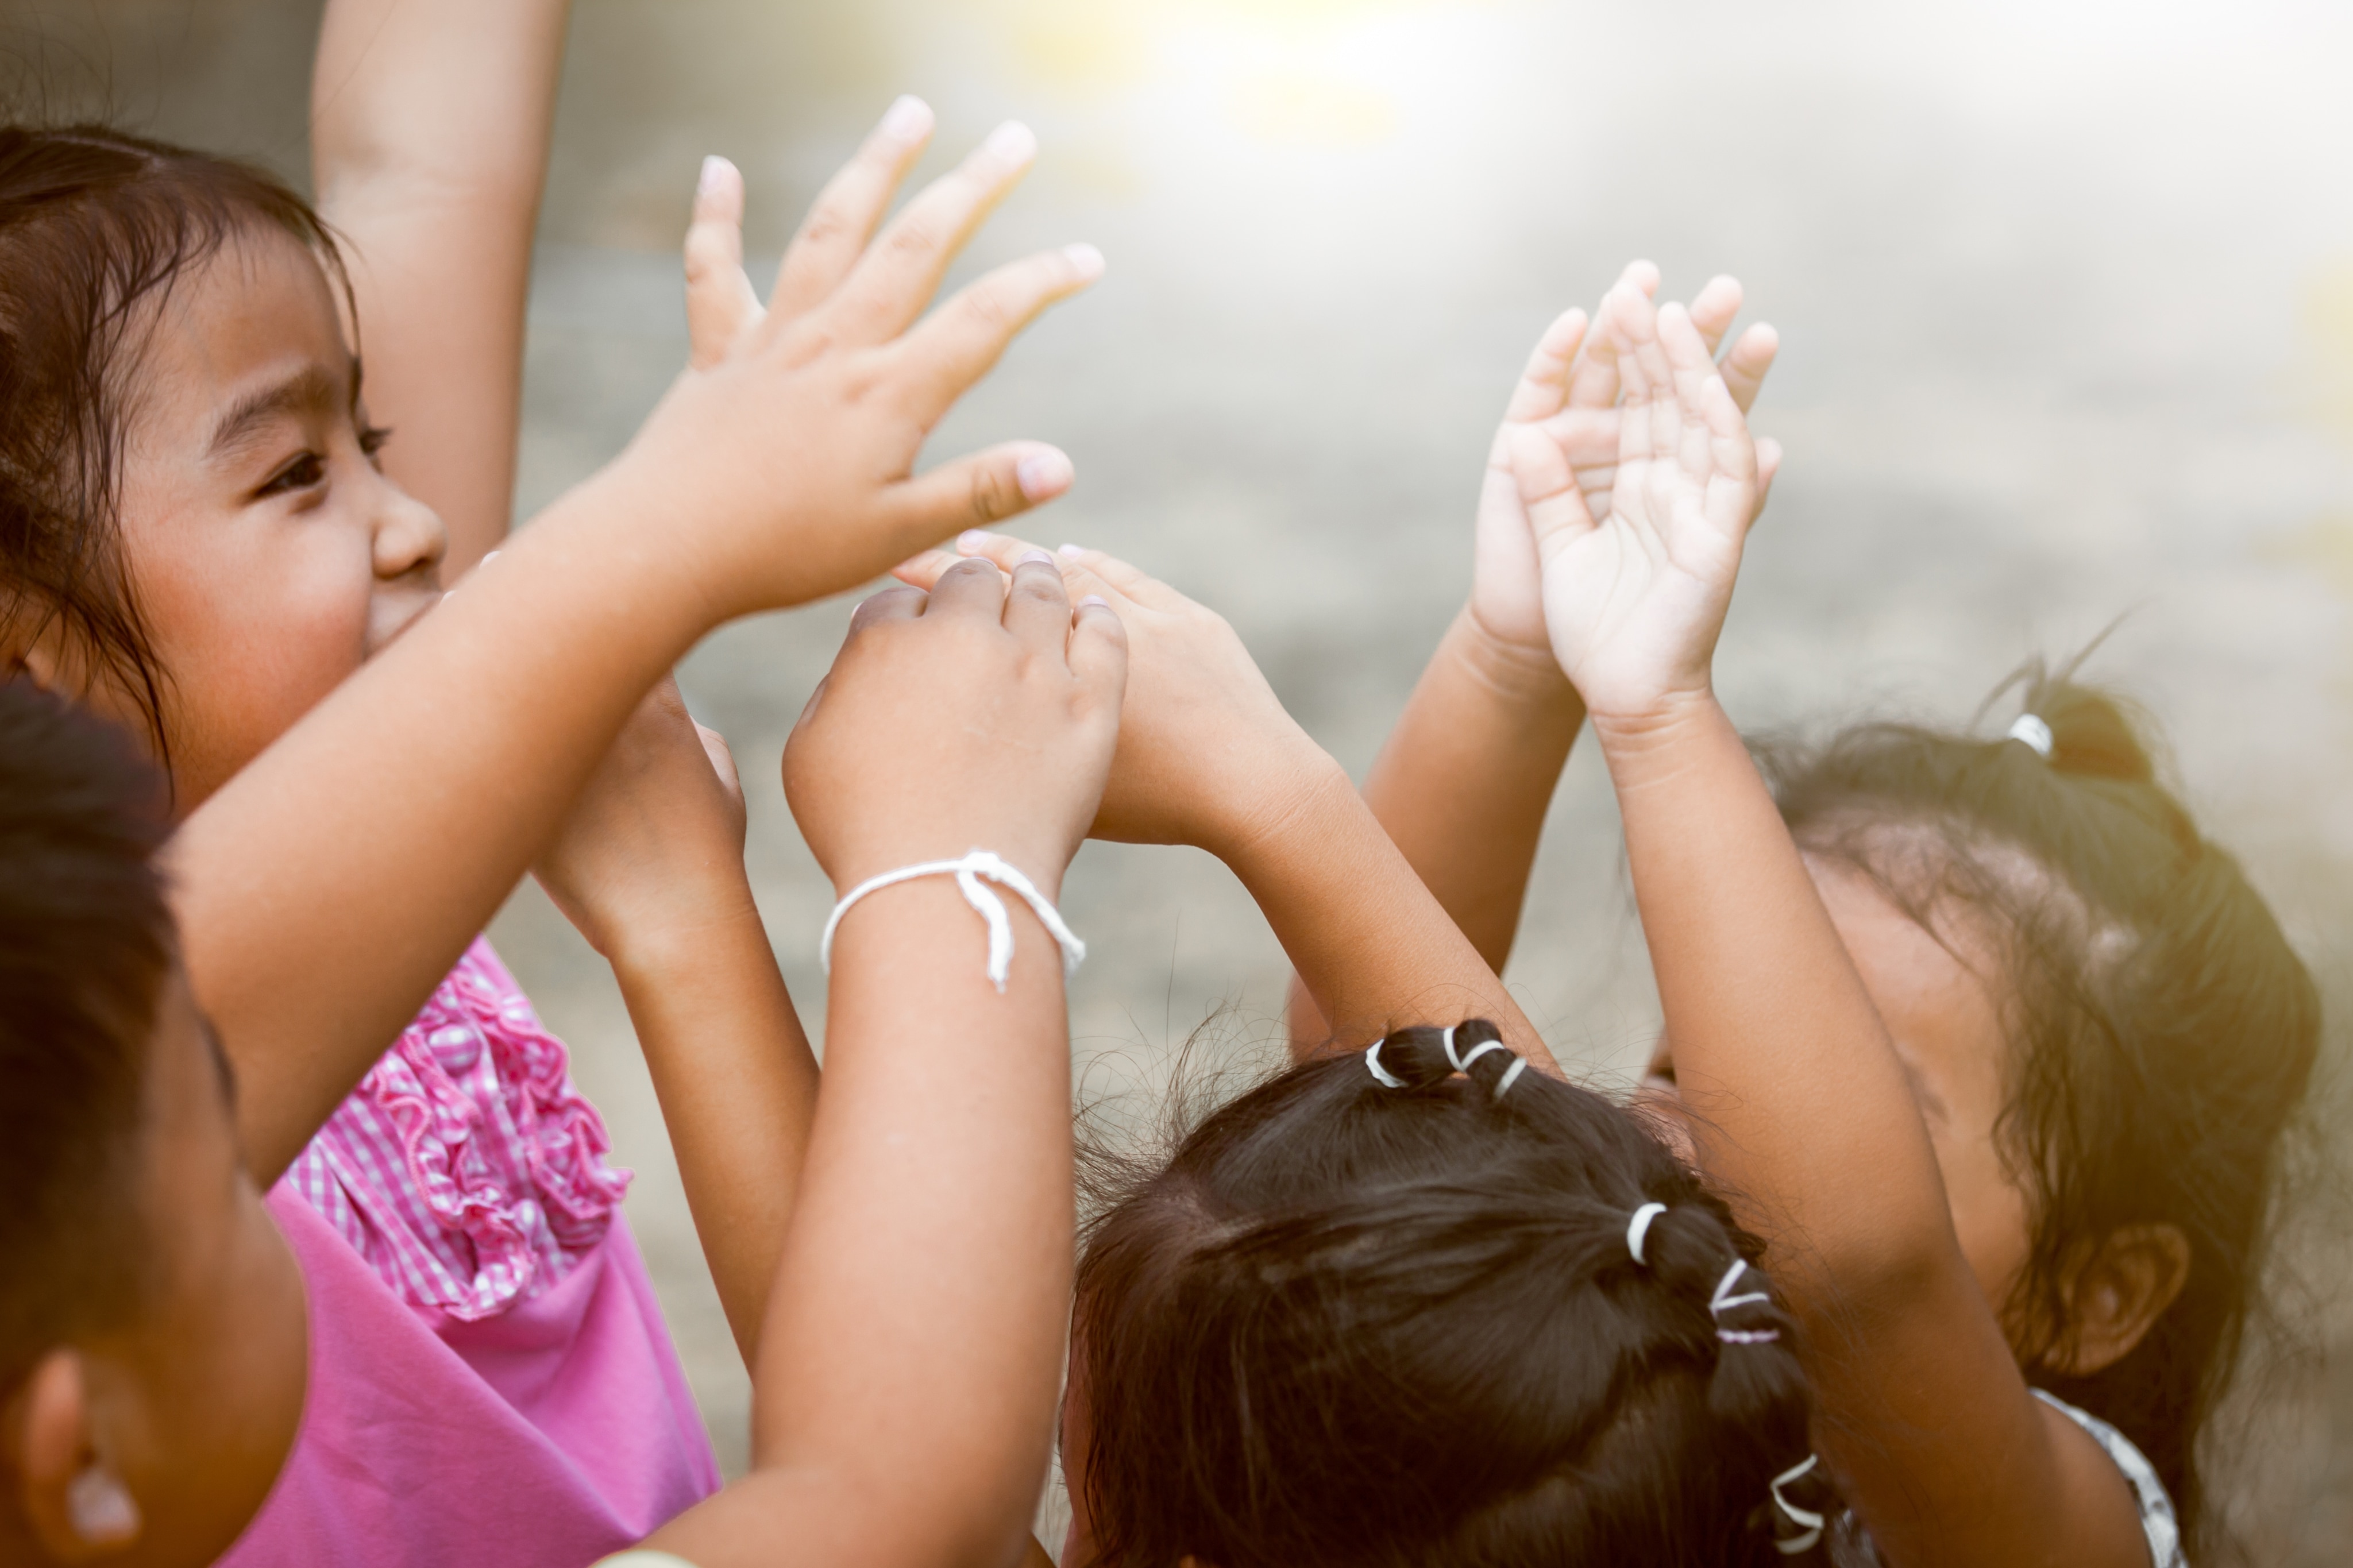
[[[1186,1133],[1092,1234],[1064,1563],[1807,1552],[1826,1493],[1758,1241],[1645,1121],[1558,1081],[1224,621],[1099,552],[1061,564],[1129,646],[1092,832],[1221,856],[1353,1046]],[[1421,1027],[1466,1011],[1497,1023]]]

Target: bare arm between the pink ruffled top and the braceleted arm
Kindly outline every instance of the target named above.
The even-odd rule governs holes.
[[[661,682],[574,804],[539,882],[638,1027],[711,1279],[753,1366],[816,1114],[816,1058],[744,875],[718,733]]]

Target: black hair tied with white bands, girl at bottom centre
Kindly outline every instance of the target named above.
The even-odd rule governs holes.
[[[1092,1227],[1073,1568],[1798,1561],[1795,1331],[1748,1267],[1711,1309],[1760,1241],[1633,1112],[1539,1072],[1497,1093],[1492,1039],[1391,1034],[1402,1088],[1362,1053],[1294,1067]]]

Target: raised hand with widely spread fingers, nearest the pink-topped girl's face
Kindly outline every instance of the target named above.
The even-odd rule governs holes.
[[[1014,334],[1104,266],[1085,244],[1042,252],[918,322],[1038,150],[1005,125],[882,228],[929,125],[915,101],[892,108],[819,197],[767,310],[741,268],[741,176],[706,165],[687,240],[692,364],[598,484],[649,527],[692,534],[680,567],[715,618],[852,588],[1071,484],[1071,461],[1040,442],[913,475],[925,435]]]

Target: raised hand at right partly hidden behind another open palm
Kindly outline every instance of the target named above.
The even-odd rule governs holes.
[[[1659,268],[1631,261],[1617,289],[1652,296],[1659,289]],[[1708,353],[1715,353],[1741,310],[1741,284],[1715,277],[1692,299],[1689,310]],[[1744,411],[1755,402],[1779,343],[1772,327],[1755,324],[1725,353],[1720,367],[1725,386]],[[1617,346],[1607,334],[1588,331],[1584,310],[1569,310],[1544,331],[1513,386],[1504,423],[1487,449],[1471,569],[1471,618],[1504,651],[1548,651],[1537,541],[1513,475],[1513,442],[1525,430],[1551,440],[1560,449],[1560,461],[1574,473],[1586,510],[1602,520],[1609,515],[1609,491],[1617,482],[1619,393]],[[1767,463],[1767,484],[1769,468]],[[1762,503],[1760,487],[1758,505]]]

